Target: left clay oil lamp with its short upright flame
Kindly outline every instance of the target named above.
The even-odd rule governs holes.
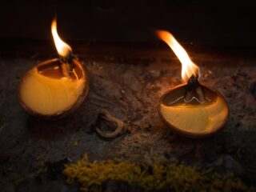
[[[41,62],[22,78],[18,98],[30,114],[43,118],[63,117],[78,108],[89,91],[89,77],[72,49],[58,36],[57,22],[51,31],[59,58]]]

